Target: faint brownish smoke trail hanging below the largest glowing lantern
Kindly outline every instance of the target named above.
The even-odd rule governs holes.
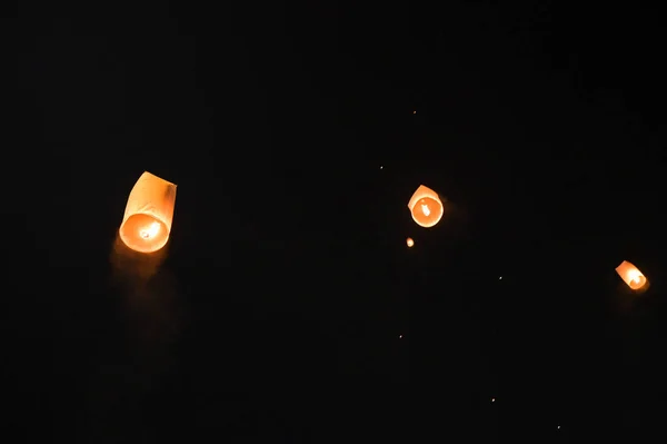
[[[142,424],[142,411],[176,364],[182,330],[177,282],[167,267],[167,247],[140,254],[117,236],[110,256],[111,284],[121,313],[100,349],[88,392],[93,435],[122,435],[118,421]]]

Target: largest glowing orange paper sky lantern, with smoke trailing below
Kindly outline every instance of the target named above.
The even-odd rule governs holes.
[[[167,245],[175,204],[176,185],[143,172],[130,193],[120,225],[123,244],[140,253],[157,251]]]

